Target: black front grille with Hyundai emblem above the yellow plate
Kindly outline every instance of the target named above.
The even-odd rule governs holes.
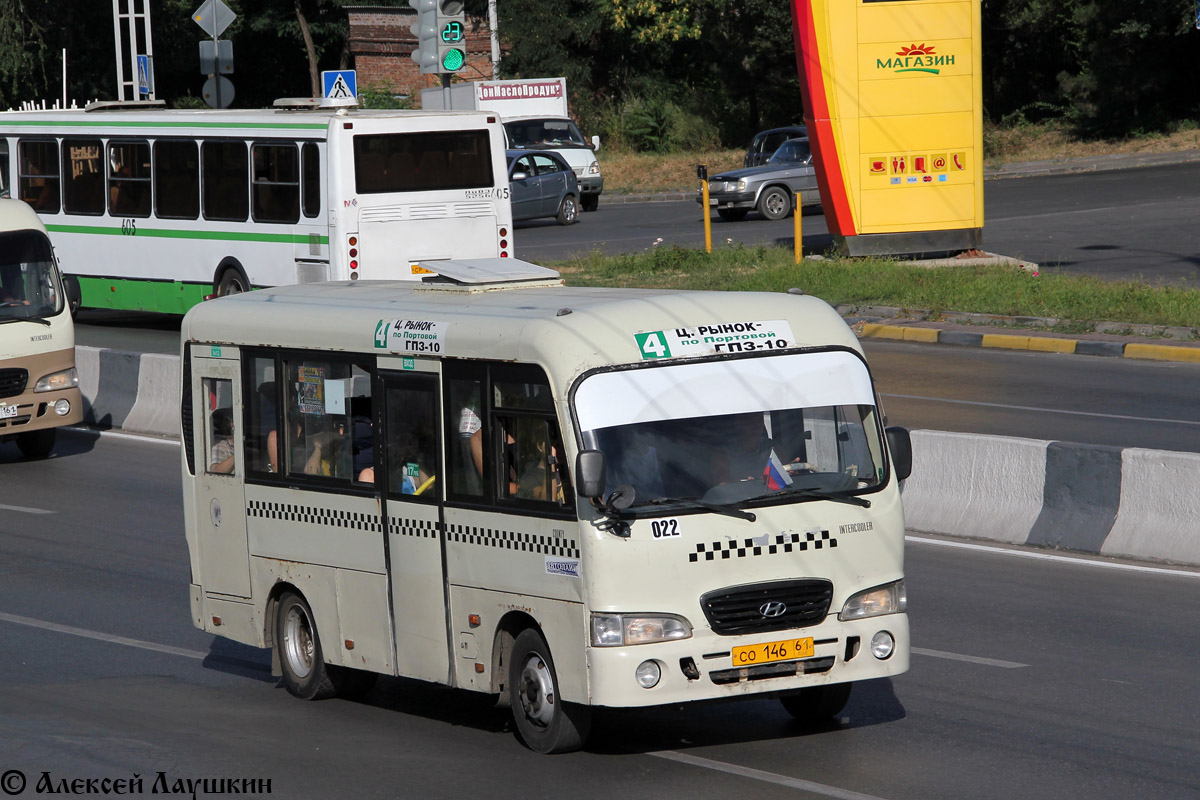
[[[700,599],[714,633],[760,633],[816,625],[829,612],[833,583],[773,581],[709,591]]]

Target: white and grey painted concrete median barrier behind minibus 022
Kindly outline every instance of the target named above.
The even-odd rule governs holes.
[[[179,435],[179,357],[76,348],[84,422]],[[1200,453],[912,432],[910,529],[1200,565]]]

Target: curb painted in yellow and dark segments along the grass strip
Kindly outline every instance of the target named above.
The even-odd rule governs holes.
[[[928,325],[890,325],[862,319],[847,319],[846,321],[850,323],[859,338],[866,339],[899,339],[902,342],[955,344],[959,347],[985,347],[1006,350],[1033,350],[1039,353],[1066,353],[1116,359],[1200,363],[1200,344],[1156,344],[1148,342],[1063,338],[1045,335],[977,333],[973,331],[946,330]]]

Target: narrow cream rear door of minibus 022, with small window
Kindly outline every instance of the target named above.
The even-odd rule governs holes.
[[[232,348],[193,348],[192,431],[196,446],[197,576],[206,593],[250,597],[246,541],[245,459],[241,431],[241,373]],[[212,356],[209,356],[209,353]]]

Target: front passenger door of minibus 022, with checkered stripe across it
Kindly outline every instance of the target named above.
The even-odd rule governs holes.
[[[384,492],[397,674],[446,682],[450,654],[442,524],[442,421],[437,362],[379,372],[376,485]],[[383,366],[383,363],[380,363]],[[412,367],[410,367],[412,368]]]

